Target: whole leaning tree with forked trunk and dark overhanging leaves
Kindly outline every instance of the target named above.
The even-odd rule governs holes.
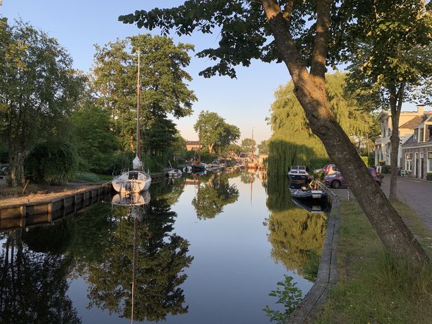
[[[138,27],[147,29],[158,27],[163,33],[176,29],[180,35],[191,34],[195,29],[211,33],[220,27],[219,47],[197,53],[217,62],[201,72],[206,77],[217,73],[235,77],[234,66],[249,66],[252,59],[284,62],[312,132],[339,165],[387,250],[395,258],[410,260],[414,265],[424,264],[429,260],[427,254],[374,182],[328,106],[326,66],[347,58],[344,45],[352,39],[349,27],[359,21],[352,12],[373,12],[373,3],[372,0],[187,0],[177,8],[137,10],[120,16],[119,20],[136,22]],[[395,5],[411,5],[405,0],[385,4],[386,11],[393,10]],[[310,23],[311,20],[315,23]]]

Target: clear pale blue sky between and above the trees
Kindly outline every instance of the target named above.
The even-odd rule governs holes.
[[[75,68],[88,71],[93,64],[93,45],[104,45],[116,38],[125,38],[148,32],[135,25],[125,25],[117,21],[121,14],[130,14],[135,10],[172,7],[181,0],[3,0],[0,14],[13,20],[21,17],[35,27],[57,38],[74,60]],[[155,32],[152,32],[153,34]],[[190,42],[195,45],[195,52],[208,47],[217,47],[217,34],[202,35],[195,33],[190,37],[176,41]],[[191,53],[193,56],[193,53]],[[193,124],[201,110],[217,112],[228,123],[237,125],[241,138],[252,136],[257,142],[269,138],[271,130],[265,122],[274,99],[274,90],[289,81],[287,68],[283,64],[253,62],[249,68],[237,68],[237,79],[213,77],[204,79],[198,76],[209,63],[206,59],[193,56],[187,68],[193,77],[190,88],[198,98],[193,106],[193,116],[176,120],[182,136],[196,140]],[[404,105],[404,110],[416,110],[414,105]]]

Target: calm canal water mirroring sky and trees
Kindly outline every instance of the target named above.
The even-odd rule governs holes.
[[[311,288],[326,216],[293,204],[285,177],[189,176],[150,196],[1,232],[0,322],[269,323],[285,275]]]

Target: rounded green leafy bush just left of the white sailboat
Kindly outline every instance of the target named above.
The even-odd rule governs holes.
[[[72,134],[78,155],[78,168],[95,173],[111,173],[119,140],[111,131],[106,110],[87,103],[71,116]]]

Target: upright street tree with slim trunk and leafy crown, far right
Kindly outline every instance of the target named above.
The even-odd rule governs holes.
[[[412,100],[416,88],[432,80],[432,17],[419,1],[407,0],[388,10],[385,2],[373,3],[373,14],[355,12],[360,46],[350,65],[350,86],[355,88],[364,108],[390,108],[392,134],[390,136],[389,199],[396,199],[398,175],[399,117],[404,101]],[[429,28],[427,25],[429,24]],[[423,90],[423,89],[422,89]],[[431,95],[424,92],[424,95]],[[424,96],[423,96],[424,97]],[[372,107],[370,105],[372,104]]]

